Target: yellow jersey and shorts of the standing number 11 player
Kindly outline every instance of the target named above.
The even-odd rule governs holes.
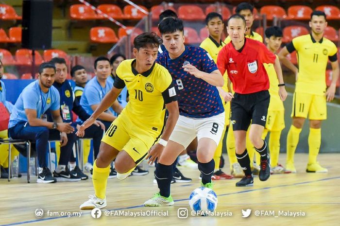
[[[337,53],[336,45],[323,37],[316,42],[311,35],[302,35],[292,40],[298,55],[299,73],[293,97],[291,117],[310,120],[325,120],[326,82],[325,71],[328,56]]]

